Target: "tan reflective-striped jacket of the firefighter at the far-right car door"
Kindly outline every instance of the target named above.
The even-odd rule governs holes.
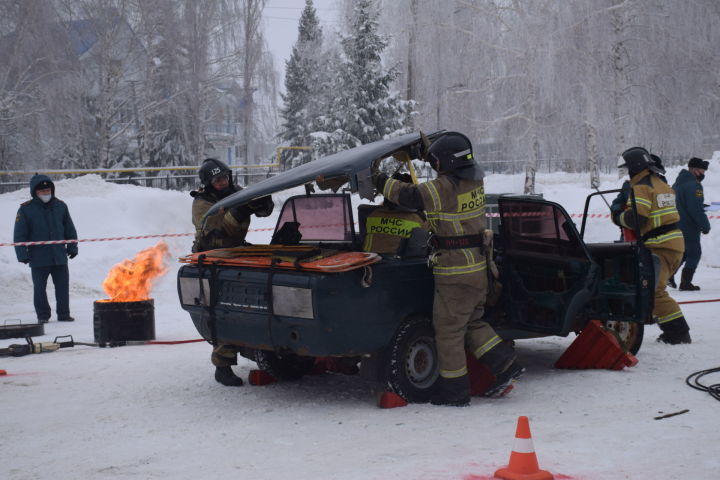
[[[643,170],[630,179],[635,194],[637,219],[632,208],[628,208],[617,219],[621,227],[634,228],[635,221],[640,225],[640,235],[650,248],[666,248],[682,252],[685,242],[678,227],[680,214],[675,206],[675,192],[657,175]],[[632,197],[628,206],[632,207]]]

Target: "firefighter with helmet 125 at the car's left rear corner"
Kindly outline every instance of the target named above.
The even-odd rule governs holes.
[[[192,221],[195,225],[193,252],[203,252],[215,248],[246,245],[245,236],[250,227],[250,216],[267,217],[273,211],[274,204],[269,196],[239,205],[228,211],[221,209],[216,214],[205,217],[210,208],[223,198],[241,190],[232,180],[227,165],[220,160],[207,158],[198,172],[200,183],[198,190],[190,192],[193,197]],[[215,380],[225,386],[239,387],[243,384],[240,377],[233,373],[231,366],[237,365],[237,349],[232,345],[218,344],[213,347],[210,357],[215,365]]]

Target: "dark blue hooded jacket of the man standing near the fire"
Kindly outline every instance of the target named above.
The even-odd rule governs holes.
[[[35,194],[35,188],[43,181],[52,185],[53,196],[47,203],[43,203]],[[13,241],[77,240],[70,211],[65,202],[55,197],[55,186],[50,177],[34,175],[30,179],[30,192],[32,200],[21,204],[15,217]],[[28,262],[31,267],[67,265],[67,256],[75,256],[77,252],[77,243],[15,247],[18,261]]]

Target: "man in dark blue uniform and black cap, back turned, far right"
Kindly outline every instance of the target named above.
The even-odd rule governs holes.
[[[710,222],[705,214],[705,197],[702,180],[709,163],[699,158],[691,158],[687,170],[681,170],[673,184],[677,197],[677,210],[680,213],[680,230],[685,238],[685,267],[680,276],[680,290],[700,290],[693,285],[692,277],[700,263],[700,233],[710,232]],[[671,278],[671,284],[674,279]]]

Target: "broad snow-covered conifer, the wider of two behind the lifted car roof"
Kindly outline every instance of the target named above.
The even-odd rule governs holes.
[[[398,72],[382,65],[381,55],[388,39],[378,31],[378,15],[374,0],[359,0],[348,19],[349,33],[341,41],[343,56],[336,77],[339,88],[335,92],[335,108],[326,112],[326,125],[338,126],[327,130],[330,141],[340,142],[330,150],[339,151],[409,131],[415,102],[401,99],[390,89]]]

